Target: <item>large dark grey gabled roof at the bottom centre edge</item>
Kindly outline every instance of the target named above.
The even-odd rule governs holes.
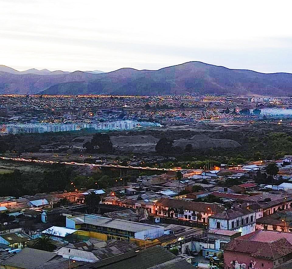
[[[138,252],[130,251],[109,257],[106,260],[100,260],[88,265],[81,266],[80,269],[158,269],[158,268],[184,268],[193,269],[193,265],[189,264],[181,257],[177,257],[162,246],[154,246],[146,250]]]

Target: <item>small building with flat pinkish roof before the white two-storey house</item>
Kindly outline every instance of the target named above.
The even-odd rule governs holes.
[[[241,236],[241,232],[214,229],[207,232],[207,238],[215,241],[215,249],[223,250],[226,243]]]

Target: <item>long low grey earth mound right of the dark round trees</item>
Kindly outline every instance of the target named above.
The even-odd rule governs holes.
[[[231,139],[214,139],[207,135],[194,135],[188,139],[175,140],[173,145],[180,148],[185,148],[186,145],[191,144],[193,148],[238,148],[241,145]]]

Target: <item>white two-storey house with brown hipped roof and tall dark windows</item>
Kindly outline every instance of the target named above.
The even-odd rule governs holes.
[[[255,231],[255,211],[247,208],[226,208],[209,217],[209,230],[223,229],[245,235]]]

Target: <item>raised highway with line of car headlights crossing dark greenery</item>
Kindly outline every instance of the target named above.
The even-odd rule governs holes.
[[[155,171],[176,171],[176,169],[166,169],[157,167],[141,167],[141,166],[123,166],[123,165],[113,165],[113,164],[91,164],[91,163],[80,163],[80,162],[58,162],[58,161],[48,161],[48,160],[36,160],[36,159],[23,159],[23,158],[10,158],[10,157],[0,157],[3,160],[11,160],[16,162],[37,162],[37,163],[61,163],[65,165],[82,165],[82,166],[94,166],[94,167],[108,167],[108,168],[125,168],[125,169],[136,169],[136,170],[155,170]]]

